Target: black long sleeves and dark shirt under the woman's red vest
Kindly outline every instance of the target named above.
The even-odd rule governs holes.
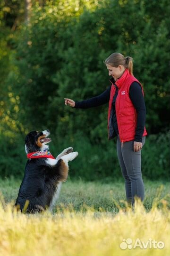
[[[75,108],[88,109],[88,108],[98,107],[102,104],[109,102],[110,90],[111,90],[111,85],[98,96],[95,96],[85,101],[76,101]],[[116,101],[117,95],[118,95],[118,87],[116,86],[116,92],[112,101],[112,108],[113,108],[112,121],[113,121],[114,132],[116,134],[119,134],[118,124],[116,119],[116,110],[115,110],[115,101]],[[144,103],[142,88],[138,82],[133,82],[130,85],[129,97],[137,112],[137,127],[136,127],[136,135],[135,135],[134,141],[142,142],[142,135],[144,133],[144,124],[145,124],[145,116],[146,116],[146,107]]]

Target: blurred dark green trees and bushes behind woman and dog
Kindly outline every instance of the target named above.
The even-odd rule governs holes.
[[[148,136],[142,171],[170,180],[170,4],[168,0],[0,1],[0,177],[23,177],[24,139],[50,129],[50,151],[73,146],[70,177],[122,178],[116,139],[108,141],[108,104],[77,110],[110,86],[103,61],[134,59],[144,87]]]

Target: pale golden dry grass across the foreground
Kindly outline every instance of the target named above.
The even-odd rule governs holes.
[[[122,250],[120,243],[127,238],[132,239],[132,246],[137,238],[144,243],[152,239],[151,248]],[[154,248],[153,240],[165,246]],[[24,215],[12,212],[9,204],[0,206],[0,256],[165,256],[170,252],[169,241],[166,201],[161,210],[155,204],[150,212],[136,201],[135,210],[120,208],[114,216],[88,207],[85,210],[85,206],[79,212],[70,208],[43,215]]]

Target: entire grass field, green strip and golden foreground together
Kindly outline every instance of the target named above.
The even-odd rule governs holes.
[[[132,210],[122,181],[68,180],[53,213],[30,216],[12,212],[20,181],[0,180],[0,256],[168,256],[170,183],[144,184]]]

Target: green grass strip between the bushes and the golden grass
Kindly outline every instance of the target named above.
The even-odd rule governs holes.
[[[11,179],[0,180],[0,193],[5,201],[9,203],[17,198],[21,181]],[[161,207],[162,199],[168,202],[170,207],[170,182],[144,181],[145,198],[144,207],[146,211],[152,208],[153,202],[158,201]],[[119,206],[124,208],[126,204],[125,187],[123,180],[111,183],[84,182],[82,180],[70,180],[62,184],[57,206],[61,208],[73,208],[76,211],[82,207],[92,207],[98,211],[117,213]]]

